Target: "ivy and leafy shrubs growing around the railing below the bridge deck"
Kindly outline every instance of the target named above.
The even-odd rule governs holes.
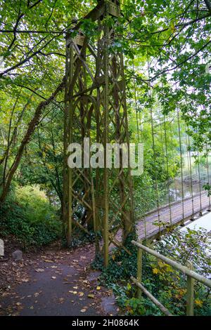
[[[130,239],[132,239],[130,237]],[[136,248],[130,244],[129,256],[124,250],[113,251],[108,268],[102,260],[95,261],[95,268],[102,270],[101,281],[113,289],[118,305],[129,315],[162,315],[162,312],[144,295],[136,298],[136,286],[130,277],[136,277]],[[194,269],[204,275],[210,274],[210,235],[205,230],[176,232],[153,246],[161,254],[186,264],[192,261]],[[186,313],[186,277],[148,253],[143,253],[142,283],[155,298],[173,315]],[[207,287],[195,284],[195,315],[210,315],[210,293]]]

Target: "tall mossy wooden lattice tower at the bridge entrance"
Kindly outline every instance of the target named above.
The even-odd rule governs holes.
[[[66,38],[63,214],[68,244],[75,227],[94,230],[96,250],[103,251],[105,265],[109,245],[124,248],[124,239],[134,224],[132,176],[130,169],[122,167],[122,150],[120,168],[106,168],[106,143],[127,143],[129,148],[123,56],[113,47],[120,15],[119,1],[98,1],[85,17],[96,22],[96,37],[89,39],[82,34],[78,23],[74,27],[77,35],[71,32]],[[103,144],[104,168],[67,166],[68,145],[83,145],[84,138]],[[122,242],[115,238],[120,228]]]

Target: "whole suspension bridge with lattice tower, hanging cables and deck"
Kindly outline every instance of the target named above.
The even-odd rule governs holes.
[[[124,249],[134,227],[141,239],[154,239],[210,211],[210,197],[204,189],[210,183],[210,156],[207,150],[205,156],[193,152],[190,128],[179,106],[164,114],[153,83],[148,84],[148,102],[143,106],[136,79],[132,81],[134,97],[127,97],[123,50],[115,48],[121,15],[120,1],[98,1],[84,18],[93,22],[96,34],[89,37],[77,22],[66,36],[63,218],[68,244],[78,229],[88,234],[94,230],[96,253],[103,255],[106,266],[110,246]],[[151,65],[148,56],[148,81]],[[140,70],[134,60],[131,69]],[[151,159],[144,163],[144,171],[152,180],[142,185],[141,202],[134,195],[134,185],[138,186],[142,177],[133,178],[131,169],[124,169],[121,152],[119,169],[108,169],[106,163],[103,169],[90,169],[85,164],[81,169],[67,166],[68,145],[82,145],[84,138],[103,144],[104,161],[106,143],[126,143],[129,147],[133,142],[129,107],[136,111],[135,139],[144,145],[144,161]],[[158,169],[162,169],[161,174]],[[153,206],[148,204],[150,195]]]

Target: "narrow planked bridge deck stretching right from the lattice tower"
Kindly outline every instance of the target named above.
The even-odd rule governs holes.
[[[206,211],[209,208],[209,197],[207,197],[207,192],[201,195],[202,210]],[[183,208],[182,202],[172,204],[171,214],[172,214],[172,226],[180,225],[183,223]],[[200,195],[193,197],[193,208],[191,198],[184,200],[184,221],[190,220],[192,218],[192,213],[194,210],[194,215],[200,213]],[[148,213],[145,220],[140,220],[137,224],[139,239],[144,238],[156,238],[159,236],[159,232],[164,234],[170,230],[170,206],[165,206],[160,209],[160,230],[158,223],[158,210]],[[145,229],[146,227],[146,229]]]

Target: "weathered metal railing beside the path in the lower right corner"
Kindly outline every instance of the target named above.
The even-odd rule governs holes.
[[[153,249],[148,248],[147,246],[132,241],[132,244],[137,246],[138,253],[137,253],[137,275],[135,277],[131,277],[132,281],[136,286],[138,286],[138,298],[141,297],[141,292],[145,293],[146,296],[153,301],[153,303],[167,316],[172,316],[169,310],[165,308],[146,288],[141,284],[141,278],[142,278],[142,250],[146,253],[151,254],[152,256],[155,256],[156,258],[162,260],[164,263],[167,263],[168,265],[172,266],[173,268],[176,268],[177,270],[181,271],[184,275],[187,276],[187,293],[186,293],[186,315],[187,316],[193,316],[194,312],[194,280],[204,284],[205,286],[208,286],[211,288],[211,280],[205,278],[202,275],[199,275],[197,272],[194,272],[191,268],[192,265],[190,263],[190,268],[180,265],[174,260],[171,260],[170,258],[167,258],[163,256],[162,254],[156,252]]]

